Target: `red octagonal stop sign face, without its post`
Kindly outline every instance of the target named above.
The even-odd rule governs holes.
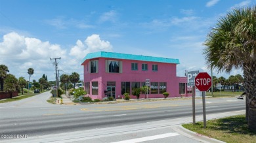
[[[211,87],[211,76],[207,72],[200,72],[195,77],[195,86],[200,91],[208,91]]]

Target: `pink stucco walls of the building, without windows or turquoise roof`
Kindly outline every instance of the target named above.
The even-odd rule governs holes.
[[[91,59],[92,60],[92,59]],[[84,66],[84,82],[98,82],[98,95],[89,95],[92,99],[102,99],[106,97],[104,90],[106,90],[107,82],[116,82],[116,98],[123,97],[121,95],[121,82],[145,82],[150,79],[150,82],[166,82],[167,92],[169,97],[180,97],[179,82],[186,82],[184,78],[176,76],[176,64],[173,63],[157,63],[150,61],[132,61],[127,59],[109,59],[100,57],[98,60],[98,73],[90,73],[89,60],[83,63]],[[106,72],[106,60],[122,61],[122,73],[108,73]],[[131,63],[138,63],[138,71],[131,70]],[[142,71],[142,63],[148,64],[148,71]],[[152,71],[152,64],[158,65],[158,71]],[[158,85],[159,86],[159,85]],[[90,88],[90,93],[92,89]],[[136,98],[131,95],[132,98]],[[140,95],[144,98],[144,95]],[[149,94],[148,98],[163,98],[162,94]]]

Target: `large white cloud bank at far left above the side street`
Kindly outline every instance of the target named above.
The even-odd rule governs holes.
[[[32,78],[38,80],[43,74],[50,73],[49,71],[53,73],[49,57],[66,57],[66,50],[61,49],[58,44],[14,32],[3,36],[0,49],[1,64],[7,65],[16,78],[28,77],[28,68],[32,67],[35,71]]]

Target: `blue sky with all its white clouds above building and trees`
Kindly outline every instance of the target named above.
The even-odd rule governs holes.
[[[179,59],[177,76],[210,73],[202,55],[207,33],[232,8],[255,1],[0,0],[0,64],[16,78],[28,79],[32,67],[32,80],[55,80],[50,57],[61,57],[60,74],[82,75],[86,54],[107,51]]]

